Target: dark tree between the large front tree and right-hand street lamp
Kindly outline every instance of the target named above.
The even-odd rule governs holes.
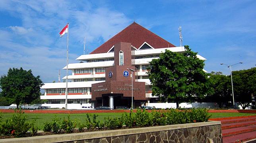
[[[221,72],[211,72],[209,74],[209,81],[211,81],[211,87],[213,93],[208,95],[212,102],[219,104],[222,108],[224,105],[227,107],[232,101],[232,89],[230,76],[222,75]]]

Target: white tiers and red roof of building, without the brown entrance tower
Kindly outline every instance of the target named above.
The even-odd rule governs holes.
[[[165,52],[166,49],[173,52],[184,52],[184,47],[175,47],[175,45],[163,40],[139,24],[132,23],[95,49],[95,51],[76,58],[78,63],[68,64],[68,70],[72,71],[72,75],[68,75],[70,81],[68,82],[68,109],[81,109],[82,106],[92,106],[91,86],[95,83],[105,82],[105,69],[114,65],[114,44],[117,42],[129,42],[132,45],[131,63],[136,69],[135,81],[145,83],[145,98],[147,98],[147,102],[144,105],[155,103],[152,105],[166,108],[166,103],[156,104],[159,99],[151,95],[152,89],[147,75],[147,68],[150,66],[149,62],[153,58],[159,58],[159,55]],[[197,56],[201,60],[206,60],[200,55]],[[63,69],[65,70],[66,66]],[[62,79],[66,79],[66,76]],[[45,89],[41,99],[48,101],[43,106],[51,108],[65,107],[65,82],[45,83],[41,89]],[[190,106],[188,105],[187,107]]]

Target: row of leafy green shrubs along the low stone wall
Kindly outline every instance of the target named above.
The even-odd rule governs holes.
[[[105,118],[104,122],[97,119],[98,115],[85,116],[84,120],[70,120],[70,115],[67,118],[60,119],[55,117],[51,122],[46,122],[43,128],[44,132],[72,133],[75,130],[93,131],[93,130],[108,130],[118,128],[133,128],[147,126],[164,126],[171,124],[185,124],[192,122],[207,122],[209,114],[206,109],[187,109],[178,111],[176,109],[169,110],[152,110],[151,113],[145,109],[137,109],[136,113],[123,113],[121,117]],[[14,137],[24,137],[28,131],[31,135],[37,135],[38,127],[35,126],[34,120],[32,123],[27,121],[27,116],[21,110],[16,111],[12,118],[2,121],[0,114],[0,134]]]

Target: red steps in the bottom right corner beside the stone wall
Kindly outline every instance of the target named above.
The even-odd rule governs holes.
[[[242,143],[256,139],[256,116],[229,117],[213,120],[221,121],[223,143]]]

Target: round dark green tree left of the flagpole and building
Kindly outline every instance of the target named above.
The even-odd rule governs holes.
[[[7,76],[3,75],[0,79],[1,95],[8,98],[11,103],[16,103],[17,108],[20,104],[29,104],[40,97],[40,87],[43,82],[40,76],[35,77],[32,71],[22,68],[9,69]]]

